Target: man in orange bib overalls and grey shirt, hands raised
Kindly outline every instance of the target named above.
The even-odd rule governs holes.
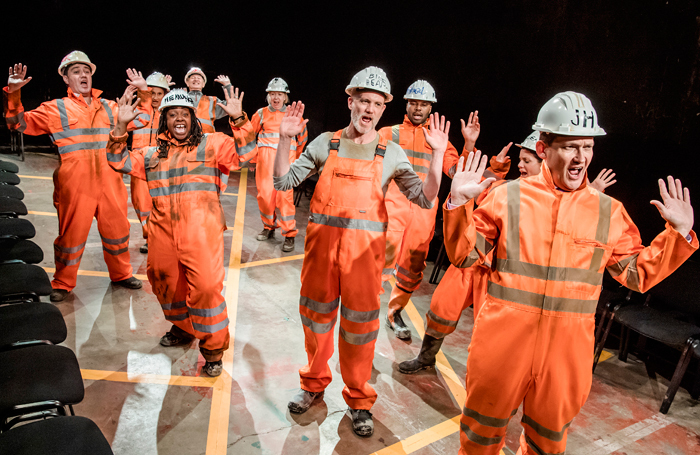
[[[384,71],[365,68],[345,92],[350,124],[335,133],[321,134],[291,166],[290,144],[307,122],[302,120],[304,105],[293,103],[280,125],[275,188],[289,190],[319,173],[306,228],[299,300],[309,363],[299,370],[301,390],[289,402],[289,410],[306,412],[331,382],[328,359],[333,354],[333,328],[342,303],[338,353],[345,383],[343,398],[350,408],[353,431],[370,436],[374,422],[369,410],[377,393],[368,381],[379,332],[387,227],[384,196],[393,180],[408,200],[431,208],[440,187],[449,122],[433,114],[430,132],[424,131],[433,159],[423,182],[401,147],[377,133],[385,103],[392,99]]]

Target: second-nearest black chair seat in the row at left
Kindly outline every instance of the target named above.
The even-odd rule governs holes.
[[[38,345],[0,352],[0,414],[47,400],[80,403],[85,396],[75,354],[64,346]],[[14,430],[13,430],[14,431]]]

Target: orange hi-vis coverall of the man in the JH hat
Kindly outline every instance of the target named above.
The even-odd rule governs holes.
[[[483,263],[495,248],[469,346],[460,454],[497,454],[520,403],[522,453],[564,453],[591,388],[604,269],[646,292],[697,250],[695,233],[688,242],[667,223],[645,248],[622,203],[585,180],[575,191],[556,188],[546,163],[493,189],[476,210],[470,202],[444,216],[453,264]]]

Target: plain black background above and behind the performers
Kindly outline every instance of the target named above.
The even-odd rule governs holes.
[[[123,91],[127,67],[144,76],[169,73],[184,86],[185,72],[197,65],[208,77],[205,94],[223,97],[213,80],[226,74],[253,112],[265,104],[268,81],[280,76],[292,99],[306,103],[311,137],[348,124],[343,90],[353,74],[376,65],[395,96],[380,127],[402,121],[403,93],[426,79],[458,149],[459,119],[479,110],[477,146],[489,155],[522,141],[555,93],[579,91],[608,132],[596,139],[591,179],[604,167],[615,170],[618,183],[607,193],[625,204],[646,243],[663,229],[649,204],[658,178],[681,178],[700,201],[698,1],[304,5],[15,2],[3,5],[2,60],[28,65],[26,109],[65,95],[56,69],[74,49],[97,65],[93,86],[108,98]],[[2,145],[8,137],[0,132]],[[511,156],[517,160],[515,151]]]

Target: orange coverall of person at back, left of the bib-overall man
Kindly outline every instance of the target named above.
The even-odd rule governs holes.
[[[236,123],[232,131],[241,162],[245,163],[257,157],[255,185],[258,188],[258,208],[263,225],[266,229],[276,229],[279,224],[284,237],[296,237],[299,230],[295,219],[294,190],[277,191],[272,181],[277,144],[280,140],[280,123],[286,110],[287,106],[279,110],[266,106],[258,109],[250,120],[244,113],[244,118]],[[301,155],[308,137],[304,126],[304,130],[292,141],[289,148],[289,164]],[[275,209],[279,210],[279,217]]]

